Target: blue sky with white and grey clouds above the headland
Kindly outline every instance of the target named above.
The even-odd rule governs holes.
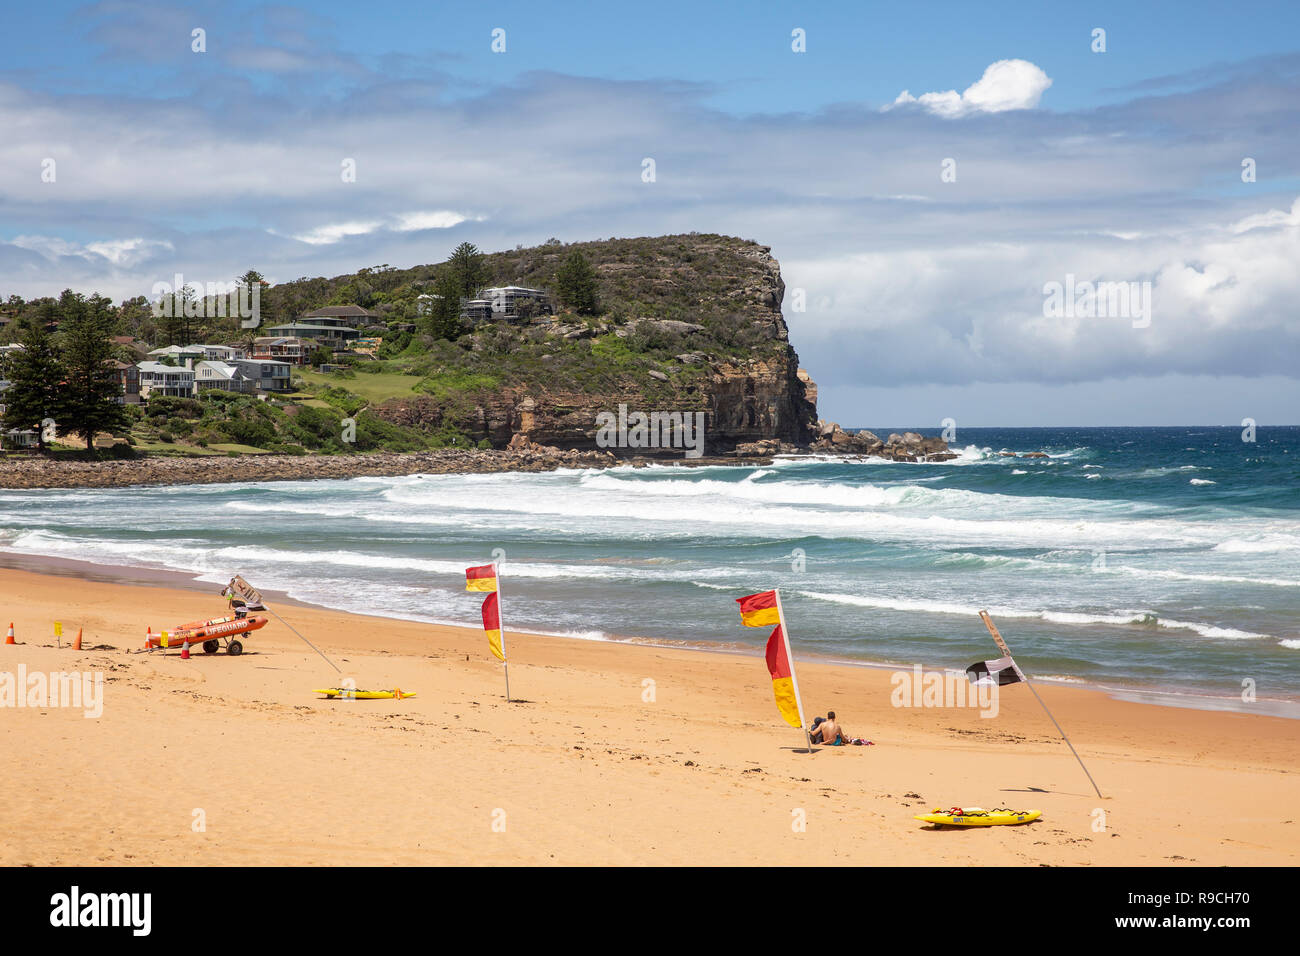
[[[16,7],[0,294],[722,232],[802,291],[792,342],[841,423],[1294,423],[1297,26],[1251,3]],[[1150,323],[1045,315],[1067,276],[1149,282]]]

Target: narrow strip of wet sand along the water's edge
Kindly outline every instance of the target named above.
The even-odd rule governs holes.
[[[190,571],[173,571],[169,568],[152,568],[134,564],[100,564],[92,561],[82,561],[79,558],[60,558],[53,555],[43,554],[25,554],[20,551],[5,551],[0,550],[0,575],[4,570],[10,571],[23,571],[29,574],[42,575],[42,576],[60,576],[60,578],[73,578],[83,581],[95,581],[103,584],[121,584],[127,587],[160,587],[168,589],[179,589],[195,593],[212,593],[216,594],[221,585],[212,581],[200,581],[196,572]],[[307,607],[321,611],[330,611],[337,614],[350,614],[359,618],[373,618],[378,620],[402,620],[410,624],[425,624],[429,627],[447,627],[465,631],[468,633],[476,633],[477,627],[473,623],[463,622],[448,622],[448,620],[421,620],[415,618],[398,618],[390,614],[368,614],[365,611],[356,611],[344,607],[333,607],[330,605],[317,604],[313,601],[303,601],[291,597],[287,592],[276,591],[270,588],[260,588],[263,596],[265,596],[272,604],[287,605],[291,607]],[[703,643],[703,641],[664,641],[653,637],[641,637],[637,635],[603,635],[601,637],[580,637],[573,633],[560,633],[555,631],[537,631],[529,628],[511,628],[510,633],[526,635],[530,637],[546,637],[551,640],[563,641],[584,641],[590,644],[620,644],[628,646],[644,646],[644,648],[659,648],[664,650],[681,650],[685,653],[703,653],[703,654],[729,654],[738,657],[762,657],[763,652],[760,646],[740,644],[740,643]],[[900,670],[910,670],[913,667],[922,667],[924,672],[950,672],[956,669],[952,666],[932,663],[932,662],[887,662],[887,661],[870,661],[870,659],[854,659],[842,656],[826,656],[816,653],[801,652],[798,656],[798,662],[816,663],[829,667],[866,667],[871,670],[881,670],[889,672],[897,672]],[[1031,675],[1032,676],[1032,675]],[[1195,693],[1190,689],[1170,689],[1161,687],[1114,687],[1108,684],[1096,683],[1092,680],[1086,680],[1083,678],[1070,678],[1069,680],[1050,679],[1050,678],[1034,678],[1036,687],[1063,687],[1063,688],[1076,688],[1080,691],[1089,691],[1093,693],[1101,693],[1112,700],[1127,701],[1131,704],[1147,704],[1152,706],[1166,706],[1178,708],[1187,710],[1200,710],[1206,713],[1232,713],[1232,714],[1265,714],[1269,717],[1278,717],[1282,719],[1295,721],[1300,719],[1300,701],[1286,700],[1286,698],[1271,698],[1261,697],[1257,698],[1251,705],[1245,705],[1236,697],[1216,697],[1212,695]]]

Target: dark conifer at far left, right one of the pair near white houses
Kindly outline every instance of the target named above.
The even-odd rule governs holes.
[[[113,371],[112,336],[117,320],[110,303],[98,293],[88,299],[74,297],[75,306],[58,326],[64,343],[64,386],[58,392],[58,423],[69,434],[79,434],[86,450],[95,447],[95,434],[126,428],[126,408]]]

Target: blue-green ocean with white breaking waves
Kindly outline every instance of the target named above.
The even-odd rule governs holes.
[[[970,428],[941,464],[0,490],[0,550],[477,626],[463,571],[502,549],[508,632],[759,648],[734,598],[779,587],[796,656],[965,667],[997,656],[984,607],[1035,678],[1294,702],[1300,427],[1256,437]]]

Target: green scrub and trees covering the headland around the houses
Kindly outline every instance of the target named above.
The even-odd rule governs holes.
[[[463,317],[464,299],[507,285],[545,290],[550,308],[525,302],[517,315],[477,325]],[[313,355],[313,364],[341,371],[294,368],[287,393],[207,389],[125,406],[113,401],[117,380],[104,369],[139,362],[140,342],[248,347],[265,333],[235,315],[204,317],[216,308],[157,315],[144,297],[117,306],[70,290],[58,299],[9,297],[0,345],[23,349],[0,359],[0,378],[12,382],[0,394],[3,427],[39,431],[53,419],[60,442],[77,434],[90,449],[96,434],[100,445],[114,436],[112,450],[98,451],[113,457],[502,446],[511,434],[491,423],[508,419],[523,398],[562,410],[612,408],[628,398],[647,408],[706,407],[716,364],[789,351],[780,297],[767,248],[736,238],[552,239],[494,254],[463,243],[439,264],[263,284],[261,328],[326,306],[377,316],[367,334],[382,342],[369,354]]]

